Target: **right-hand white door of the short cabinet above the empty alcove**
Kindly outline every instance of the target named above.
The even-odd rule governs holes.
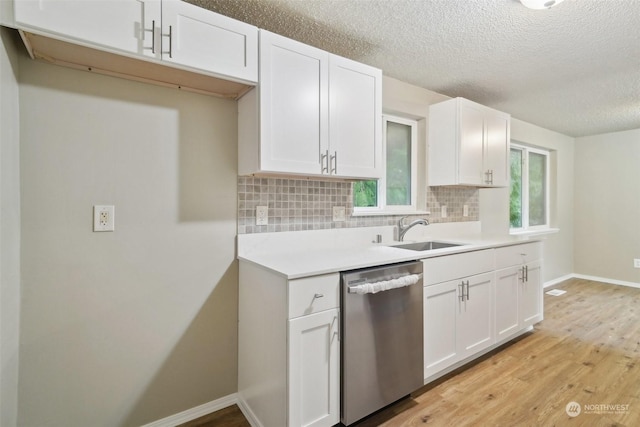
[[[258,29],[189,3],[163,0],[162,59],[256,82]]]

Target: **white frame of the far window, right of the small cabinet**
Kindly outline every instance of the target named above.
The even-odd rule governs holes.
[[[511,234],[546,231],[551,229],[551,151],[544,148],[536,148],[516,142],[511,142],[509,146],[509,156],[511,156],[511,150],[516,149],[522,153],[522,183],[521,183],[521,197],[522,197],[522,211],[521,222],[522,227],[511,227],[509,222],[509,232]],[[529,225],[529,154],[534,153],[544,156],[545,161],[545,223],[541,225]],[[511,167],[509,167],[509,198],[511,198]],[[509,199],[510,200],[510,199]],[[511,217],[511,213],[509,213]]]

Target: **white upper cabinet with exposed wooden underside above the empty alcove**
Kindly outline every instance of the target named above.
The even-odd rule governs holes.
[[[180,0],[13,6],[13,24],[36,59],[227,98],[258,79],[258,29]]]

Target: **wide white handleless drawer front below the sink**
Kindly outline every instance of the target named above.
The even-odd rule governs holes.
[[[487,249],[427,258],[423,260],[423,263],[423,277],[426,286],[493,271],[495,259],[493,249]]]

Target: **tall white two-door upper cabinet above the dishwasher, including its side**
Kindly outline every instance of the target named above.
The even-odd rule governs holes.
[[[239,173],[378,178],[382,72],[260,31],[260,86],[239,102]]]

